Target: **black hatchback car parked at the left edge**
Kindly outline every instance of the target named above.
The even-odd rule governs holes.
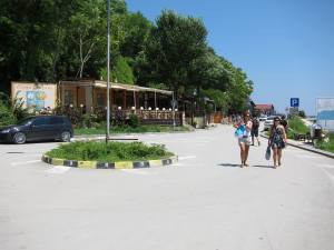
[[[70,141],[73,130],[70,120],[62,116],[29,117],[16,126],[0,129],[0,141],[22,144],[26,141]]]

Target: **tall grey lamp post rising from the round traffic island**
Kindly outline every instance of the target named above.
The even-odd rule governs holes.
[[[109,140],[110,130],[110,100],[109,100],[109,89],[110,89],[110,0],[108,0],[108,20],[107,20],[107,131],[106,131],[106,143]]]

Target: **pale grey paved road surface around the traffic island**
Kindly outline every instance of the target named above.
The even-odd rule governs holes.
[[[1,250],[333,250],[334,160],[293,147],[272,168],[232,127],[145,134],[173,167],[52,167],[57,143],[0,144]],[[134,136],[137,137],[137,136]]]

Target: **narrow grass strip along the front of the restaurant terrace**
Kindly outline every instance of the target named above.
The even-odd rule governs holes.
[[[145,132],[173,132],[173,131],[189,131],[186,127],[175,127],[173,126],[138,126],[136,128],[124,126],[124,127],[111,127],[110,133],[145,133]],[[77,128],[75,129],[75,134],[105,134],[106,127],[98,128]]]

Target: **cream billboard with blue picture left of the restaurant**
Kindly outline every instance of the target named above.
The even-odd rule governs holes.
[[[22,102],[23,108],[29,110],[55,109],[57,86],[56,83],[11,82],[11,98]]]

